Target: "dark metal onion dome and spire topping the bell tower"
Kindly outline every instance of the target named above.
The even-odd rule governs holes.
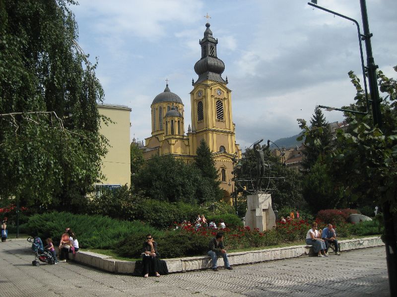
[[[199,75],[199,79],[193,85],[207,79],[227,84],[221,77],[221,74],[225,70],[225,63],[217,57],[216,53],[218,40],[213,38],[209,26],[209,23],[205,24],[207,29],[204,32],[204,38],[199,42],[201,46],[201,59],[195,64],[195,72]]]

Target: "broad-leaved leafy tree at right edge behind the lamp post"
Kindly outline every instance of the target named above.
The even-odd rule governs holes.
[[[397,71],[397,66],[394,67]],[[365,94],[360,80],[350,71],[349,77],[356,88],[356,102],[344,107],[366,111]],[[332,183],[344,187],[346,196],[358,206],[379,206],[384,202],[397,213],[397,83],[378,71],[381,92],[387,94],[382,99],[381,112],[383,127],[372,127],[371,110],[367,114],[345,113],[349,130],[337,131],[331,153],[324,159]],[[306,139],[314,141],[313,133],[306,122],[301,122]]]

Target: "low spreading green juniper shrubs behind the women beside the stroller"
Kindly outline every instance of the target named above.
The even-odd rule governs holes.
[[[73,230],[82,248],[115,248],[121,238],[132,235],[144,238],[148,233],[161,234],[157,229],[141,222],[119,221],[101,215],[76,215],[68,212],[49,212],[31,216],[21,225],[21,231],[43,241],[51,237],[59,244],[65,228]]]

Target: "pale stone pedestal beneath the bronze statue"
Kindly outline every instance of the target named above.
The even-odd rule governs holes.
[[[245,225],[249,226],[251,230],[259,228],[261,232],[276,225],[270,194],[259,193],[247,196]]]

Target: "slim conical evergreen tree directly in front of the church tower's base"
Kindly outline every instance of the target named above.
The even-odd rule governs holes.
[[[215,167],[211,150],[203,139],[196,151],[195,164],[201,172],[199,197],[202,197],[204,201],[219,201],[223,197],[223,192],[219,188],[218,170]]]

